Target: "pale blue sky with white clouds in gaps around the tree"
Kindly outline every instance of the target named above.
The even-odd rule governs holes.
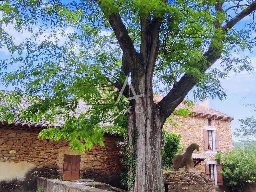
[[[238,23],[236,27],[240,28],[243,26],[244,22],[249,21],[251,18],[246,17],[242,21]],[[15,38],[15,43],[21,43],[25,38],[30,36],[30,33],[24,31],[22,34],[16,32],[13,27],[8,27],[9,32]],[[72,31],[72,29],[67,29],[68,31]],[[40,41],[44,40],[44,35],[40,35]],[[65,40],[61,40],[63,43]],[[7,50],[4,48],[0,48],[0,55],[2,59],[7,59],[10,57]],[[252,65],[256,70],[256,48],[253,48],[253,52],[241,52],[238,56],[248,56],[251,59]],[[216,62],[213,67],[218,67],[218,62]],[[7,68],[7,71],[12,71],[15,69],[15,66],[10,66]],[[235,131],[237,127],[240,126],[240,122],[238,121],[239,118],[246,118],[255,116],[255,111],[253,108],[245,106],[246,104],[253,104],[256,103],[256,73],[255,72],[241,72],[239,74],[230,73],[229,77],[221,81],[221,86],[225,90],[227,97],[226,100],[214,99],[210,101],[211,108],[218,110],[222,113],[230,115],[234,117],[232,121],[232,132]],[[12,87],[5,88],[3,85],[0,85],[1,90],[12,90]],[[193,93],[190,92],[188,94],[188,98],[190,100],[194,100]],[[233,140],[239,140],[233,136]]]

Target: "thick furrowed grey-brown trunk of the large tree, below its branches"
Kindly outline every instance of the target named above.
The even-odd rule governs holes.
[[[129,115],[129,144],[137,154],[136,175],[133,192],[164,192],[161,118],[150,89],[145,90],[144,78],[140,78],[137,94],[144,96],[134,101],[133,113]],[[139,101],[139,102],[138,102]]]

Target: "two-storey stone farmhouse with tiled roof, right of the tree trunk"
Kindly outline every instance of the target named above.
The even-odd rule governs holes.
[[[160,101],[163,96],[154,98],[155,102]],[[178,108],[185,108],[180,104]],[[199,152],[194,151],[192,155],[194,166],[197,171],[205,172],[214,179],[216,185],[223,185],[222,176],[219,170],[222,165],[216,161],[218,151],[227,152],[232,150],[231,121],[233,117],[225,115],[210,108],[208,100],[200,104],[194,103],[193,114],[188,117],[175,115],[177,127],[165,124],[165,129],[170,132],[178,132],[181,135],[181,142],[185,148],[191,143],[199,145]]]

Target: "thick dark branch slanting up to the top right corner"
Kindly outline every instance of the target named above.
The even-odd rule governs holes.
[[[216,11],[221,9],[219,5],[215,5]],[[222,27],[224,35],[231,29],[237,22],[251,14],[256,9],[256,1],[251,3],[246,9],[237,14],[233,19],[227,22]],[[220,28],[221,25],[216,21],[216,28]],[[216,39],[215,39],[216,40]],[[222,43],[222,42],[220,42]],[[207,65],[200,69],[202,73],[205,73],[213,63],[215,63],[221,56],[221,53],[216,54],[220,51],[220,47],[217,47],[211,42],[208,50],[203,54],[203,58],[206,59]],[[181,79],[173,86],[169,93],[157,104],[157,107],[161,111],[161,123],[164,124],[167,117],[171,115],[174,109],[183,101],[188,92],[196,85],[197,79],[194,76],[184,74]]]

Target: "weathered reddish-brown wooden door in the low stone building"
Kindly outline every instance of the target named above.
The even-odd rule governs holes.
[[[78,180],[80,173],[80,155],[64,155],[63,180]]]

